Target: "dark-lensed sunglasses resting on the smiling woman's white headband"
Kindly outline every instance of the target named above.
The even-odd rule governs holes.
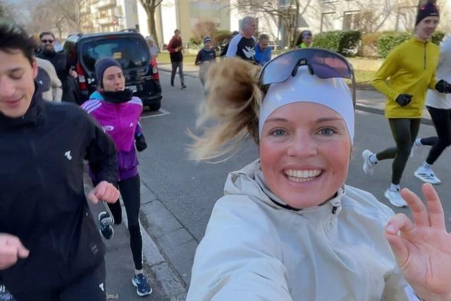
[[[352,81],[352,102],[355,105],[355,77],[352,65],[344,56],[319,48],[296,49],[277,56],[269,61],[261,70],[259,85],[285,82],[295,77],[300,66],[307,66],[311,75],[319,78],[347,78]]]

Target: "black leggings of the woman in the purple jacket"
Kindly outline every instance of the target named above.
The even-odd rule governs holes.
[[[140,229],[140,175],[118,182],[119,191],[127,212],[128,231],[130,232],[130,249],[132,250],[135,269],[142,269],[142,235]],[[121,202],[108,204],[113,214],[114,223],[122,222]]]

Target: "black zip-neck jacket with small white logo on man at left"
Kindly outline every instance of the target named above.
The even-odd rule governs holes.
[[[23,118],[0,113],[0,233],[30,250],[0,276],[11,293],[60,288],[101,264],[105,247],[83,188],[83,159],[116,183],[113,141],[73,104],[35,92]]]

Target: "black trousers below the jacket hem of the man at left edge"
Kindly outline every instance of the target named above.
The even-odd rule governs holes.
[[[26,287],[26,283],[24,283]],[[105,301],[105,263],[75,283],[56,290],[20,291],[14,293],[17,301]]]

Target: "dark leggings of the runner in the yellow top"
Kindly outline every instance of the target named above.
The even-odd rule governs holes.
[[[389,118],[388,123],[390,124],[393,138],[395,138],[396,147],[390,147],[378,152],[376,158],[378,160],[394,159],[392,183],[399,185],[402,172],[410,156],[410,150],[420,129],[421,118]]]

